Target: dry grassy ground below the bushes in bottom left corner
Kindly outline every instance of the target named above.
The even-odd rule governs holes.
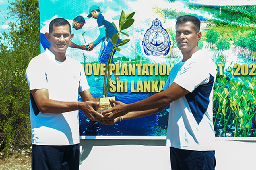
[[[2,155],[3,156],[3,155]],[[23,150],[16,152],[6,158],[0,158],[1,170],[30,170],[31,169],[31,152]]]

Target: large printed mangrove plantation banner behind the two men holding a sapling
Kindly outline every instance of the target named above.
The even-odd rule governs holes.
[[[49,47],[44,36],[49,32],[49,22],[57,17],[67,19],[74,33],[67,55],[84,66],[93,97],[103,97],[106,68],[102,63],[108,60],[103,50],[110,49],[111,52],[112,46],[108,47],[108,39],[97,41],[101,34],[100,21],[94,19],[94,15],[89,18],[89,10],[97,5],[104,17],[101,22],[113,22],[117,29],[122,11],[126,15],[135,12],[134,23],[120,34],[120,41],[130,41],[118,46],[119,50],[113,55],[109,87],[109,96],[133,103],[160,92],[170,70],[182,59],[175,41],[176,18],[185,14],[196,16],[201,21],[199,48],[210,52],[218,71],[214,85],[215,134],[255,137],[255,4],[255,1],[232,0],[214,3],[199,0],[41,0],[41,52]],[[77,25],[82,18],[85,23]],[[107,37],[108,31],[113,30],[106,28]],[[96,44],[94,49],[85,50],[91,42]],[[165,136],[168,112],[169,108],[166,108],[151,116],[105,126],[90,121],[79,111],[80,135]]]

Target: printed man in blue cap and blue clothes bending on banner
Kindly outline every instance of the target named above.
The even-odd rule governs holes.
[[[92,5],[90,7],[89,14],[87,17],[89,17],[89,18],[92,17],[92,18],[96,19],[97,23],[98,23],[99,30],[100,30],[100,35],[97,37],[96,40],[94,40],[93,42],[90,43],[90,45],[88,46],[88,50],[89,51],[93,50],[94,46],[96,46],[100,42],[104,41],[104,45],[102,47],[101,54],[99,56],[99,61],[100,61],[100,63],[107,64],[108,59],[111,54],[111,50],[113,48],[113,44],[111,41],[109,41],[109,39],[112,39],[112,36],[115,33],[117,33],[117,30],[115,29],[115,27],[113,26],[113,24],[111,22],[105,20],[104,16],[100,12],[100,7],[98,7],[97,5]],[[105,40],[105,37],[106,37],[106,40]],[[120,41],[121,40],[119,39],[117,41],[117,44]],[[114,56],[115,52],[116,52],[116,50],[113,51],[113,56]],[[113,58],[111,59],[110,63],[114,64]],[[108,74],[108,70],[107,70],[107,74]],[[119,80],[119,76],[115,74],[115,71],[113,71],[113,74],[115,76],[115,80]],[[110,78],[110,80],[111,80],[111,78]]]

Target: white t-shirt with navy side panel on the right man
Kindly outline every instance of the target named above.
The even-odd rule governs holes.
[[[199,50],[170,71],[162,90],[175,82],[190,93],[170,103],[167,146],[187,150],[215,150],[213,86],[216,67],[207,51]]]

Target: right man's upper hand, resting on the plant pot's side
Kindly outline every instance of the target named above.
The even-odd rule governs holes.
[[[127,104],[122,103],[120,101],[116,101],[113,99],[109,99],[110,103],[115,103],[116,105],[114,107],[112,107],[111,109],[108,109],[106,111],[102,111],[101,114],[103,114],[105,116],[105,120],[112,120],[115,119],[119,116],[123,116],[125,114],[127,114],[128,108],[127,108]],[[112,112],[111,114],[108,115],[108,113]]]

